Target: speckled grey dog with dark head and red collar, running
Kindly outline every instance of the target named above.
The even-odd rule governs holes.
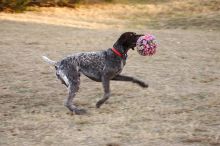
[[[75,114],[84,114],[86,112],[84,109],[77,108],[72,102],[76,92],[79,90],[81,73],[103,84],[104,96],[96,103],[97,108],[110,97],[110,80],[130,81],[147,88],[148,85],[141,80],[120,75],[126,63],[128,50],[134,49],[140,36],[142,35],[125,32],[119,37],[113,48],[99,52],[78,53],[58,62],[43,56],[46,62],[55,66],[57,78],[68,88],[69,95],[65,106],[70,111],[75,112]]]

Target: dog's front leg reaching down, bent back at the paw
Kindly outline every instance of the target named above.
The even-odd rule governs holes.
[[[104,88],[104,96],[102,99],[100,99],[97,103],[96,103],[96,107],[100,108],[100,106],[105,103],[106,100],[109,99],[110,97],[110,87],[109,87],[110,81],[109,78],[103,76],[102,77],[102,85]]]

